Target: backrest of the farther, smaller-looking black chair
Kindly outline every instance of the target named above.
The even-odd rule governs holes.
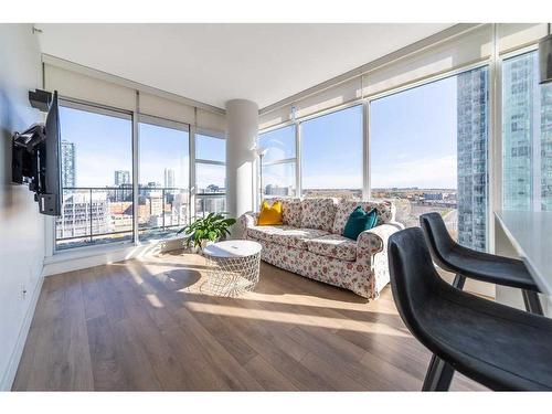
[[[420,226],[424,231],[425,242],[435,263],[445,270],[454,272],[446,261],[446,255],[456,246],[456,242],[450,237],[440,214],[422,214],[420,216]]]

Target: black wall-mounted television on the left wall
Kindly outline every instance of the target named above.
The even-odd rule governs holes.
[[[62,206],[57,92],[50,94],[36,91],[29,95],[34,107],[47,109],[46,121],[13,134],[12,181],[29,184],[42,214],[57,216]],[[40,103],[33,102],[36,96],[40,97]]]

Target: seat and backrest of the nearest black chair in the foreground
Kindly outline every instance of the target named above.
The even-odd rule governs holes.
[[[552,390],[552,320],[443,280],[421,229],[389,240],[393,298],[408,330],[454,370],[492,390]]]

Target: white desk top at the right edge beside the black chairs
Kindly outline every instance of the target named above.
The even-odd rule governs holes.
[[[497,211],[495,216],[537,286],[552,295],[552,212]]]

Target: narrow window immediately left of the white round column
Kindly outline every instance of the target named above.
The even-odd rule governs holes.
[[[195,134],[195,216],[226,211],[226,140]]]

